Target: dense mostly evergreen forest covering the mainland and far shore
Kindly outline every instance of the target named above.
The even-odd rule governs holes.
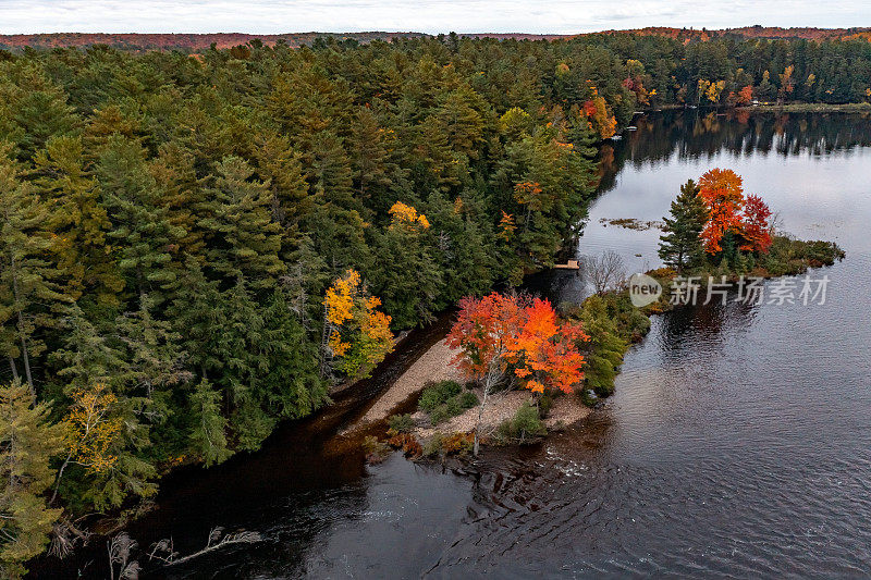
[[[0,562],[256,449],[553,263],[634,111],[860,102],[864,40],[0,52]],[[749,88],[748,88],[749,87]]]

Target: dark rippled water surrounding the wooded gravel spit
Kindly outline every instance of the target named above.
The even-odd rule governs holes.
[[[826,304],[657,318],[589,422],[489,449],[475,472],[397,455],[364,467],[354,442],[333,436],[365,392],[349,396],[255,456],[168,482],[160,509],[130,530],[143,546],[172,535],[189,552],[213,526],[265,541],[167,569],[140,558],[151,576],[871,576],[871,120],[636,124],[603,152],[579,254],[615,248],[633,269],[655,267],[658,232],[599,219],[661,219],[680,183],[728,166],[784,230],[846,249],[814,272],[831,280]],[[572,276],[553,286],[556,299],[580,295]]]

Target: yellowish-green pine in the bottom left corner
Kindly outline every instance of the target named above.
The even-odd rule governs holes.
[[[39,555],[61,509],[45,493],[54,481],[50,460],[61,453],[62,431],[49,423],[20,383],[0,386],[0,576],[15,578]]]

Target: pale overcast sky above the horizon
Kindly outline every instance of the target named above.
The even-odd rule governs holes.
[[[0,34],[871,26],[868,0],[0,0]]]

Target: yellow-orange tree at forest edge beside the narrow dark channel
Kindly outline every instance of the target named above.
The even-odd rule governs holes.
[[[418,220],[415,215],[413,221]],[[355,270],[345,272],[327,289],[321,344],[323,374],[335,369],[352,379],[366,377],[393,349],[391,319],[378,310],[379,306],[380,298],[368,295]]]

